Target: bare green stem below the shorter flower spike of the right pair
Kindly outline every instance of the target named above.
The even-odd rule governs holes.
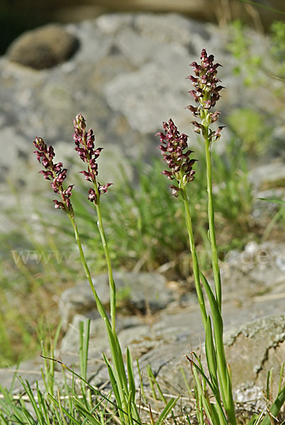
[[[186,227],[189,235],[189,243],[190,243],[190,250],[191,250],[191,256],[193,261],[193,273],[194,273],[194,282],[196,287],[196,293],[199,300],[200,310],[201,310],[201,317],[203,322],[203,327],[206,330],[207,326],[207,313],[206,313],[206,307],[205,307],[205,301],[203,297],[203,292],[201,288],[201,282],[200,282],[200,271],[199,271],[199,261],[196,254],[196,248],[194,244],[194,236],[193,236],[193,228],[192,228],[192,220],[191,220],[191,213],[189,208],[189,200],[188,196],[185,190],[184,186],[180,186],[180,193],[183,198],[184,202],[184,209],[185,209],[185,218],[186,218]]]

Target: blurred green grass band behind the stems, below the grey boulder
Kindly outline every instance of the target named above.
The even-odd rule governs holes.
[[[243,129],[246,125],[250,123],[245,122]],[[250,129],[248,134],[251,134]],[[203,176],[206,167],[203,153],[197,151],[194,156],[199,159],[196,170]],[[160,176],[161,160],[153,159],[151,164],[138,162],[133,168],[137,173],[135,186],[131,186],[125,177],[120,186],[116,186],[116,191],[109,190],[101,205],[114,268],[155,271],[172,261],[177,279],[189,278],[190,264],[186,270],[182,266],[188,249],[188,235],[180,205],[169,196],[169,184]],[[252,238],[258,239],[262,232],[250,217],[253,199],[247,180],[247,152],[238,135],[230,140],[222,156],[213,152],[213,181],[218,253],[223,259],[225,252],[242,249]],[[76,186],[79,190],[74,192],[72,203],[77,210],[79,228],[83,229],[86,259],[93,274],[104,273],[104,249],[94,228],[91,205],[86,203],[84,182],[78,179]],[[195,186],[195,190],[192,186],[187,192],[194,205],[192,220],[197,230],[197,250],[203,266],[206,266],[210,258],[203,196],[206,180],[196,179]],[[49,204],[47,200],[47,209]],[[56,326],[55,297],[76,283],[74,276],[77,281],[84,278],[77,251],[66,249],[73,246],[73,235],[63,214],[50,211],[43,217],[37,212],[38,241],[31,237],[33,229],[24,215],[20,220],[19,215],[11,210],[7,210],[7,214],[14,216],[15,225],[18,223],[19,227],[18,231],[1,235],[0,291],[1,299],[6,300],[0,307],[1,366],[38,350],[35,326],[38,317],[48,317],[50,326]]]

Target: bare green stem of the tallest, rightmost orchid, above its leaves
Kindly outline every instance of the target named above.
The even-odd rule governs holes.
[[[206,153],[206,175],[207,175],[207,193],[208,193],[208,222],[209,222],[209,236],[211,242],[211,256],[213,267],[213,278],[216,290],[216,300],[218,306],[222,310],[222,288],[220,283],[220,268],[218,266],[218,250],[216,244],[215,233],[215,216],[213,207],[213,191],[212,191],[212,164],[210,152],[210,140],[208,138],[208,126],[204,127],[204,140],[205,140],[205,153]]]

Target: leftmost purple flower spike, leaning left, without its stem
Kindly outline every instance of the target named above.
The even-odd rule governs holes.
[[[73,216],[72,204],[69,199],[72,196],[73,185],[69,186],[66,190],[62,187],[62,183],[67,176],[67,169],[62,168],[62,162],[53,163],[55,151],[52,146],[47,147],[41,137],[35,137],[33,145],[38,149],[33,153],[37,155],[38,162],[45,168],[45,170],[39,171],[40,174],[43,174],[45,179],[52,180],[50,184],[52,190],[55,193],[60,193],[62,198],[62,202],[59,202],[57,199],[53,200],[55,208],[61,208]]]

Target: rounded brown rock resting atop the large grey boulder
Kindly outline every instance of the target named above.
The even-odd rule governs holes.
[[[25,67],[44,69],[65,62],[78,41],[60,25],[47,25],[20,35],[9,47],[8,57]]]

